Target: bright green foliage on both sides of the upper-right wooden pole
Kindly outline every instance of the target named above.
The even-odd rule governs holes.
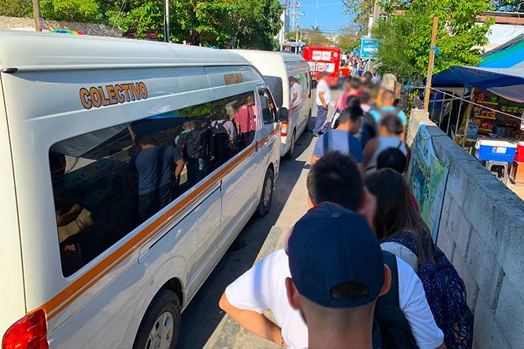
[[[490,8],[489,0],[412,1],[403,16],[389,16],[373,30],[373,36],[380,39],[375,55],[380,63],[377,70],[404,79],[426,76],[433,14],[439,18],[433,73],[455,65],[476,65],[480,58],[474,47],[487,43],[486,33],[494,23],[477,24],[476,18]]]

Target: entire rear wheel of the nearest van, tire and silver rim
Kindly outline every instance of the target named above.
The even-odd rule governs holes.
[[[159,290],[140,322],[133,349],[175,349],[181,311],[175,292]]]

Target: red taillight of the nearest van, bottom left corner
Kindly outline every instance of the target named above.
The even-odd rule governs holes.
[[[49,349],[45,312],[40,309],[16,321],[4,334],[1,349]]]

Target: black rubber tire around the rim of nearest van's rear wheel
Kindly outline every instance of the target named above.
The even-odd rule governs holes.
[[[149,348],[147,346],[148,341],[150,340],[149,335],[159,321],[160,316],[164,316],[164,314],[168,313],[165,315],[165,321],[173,321],[173,333],[171,333],[171,341],[169,341],[170,344],[168,348],[175,349],[178,342],[178,335],[180,334],[181,312],[182,307],[180,305],[180,299],[178,299],[176,293],[166,289],[159,290],[151,301],[151,304],[149,304],[149,307],[147,307],[146,314],[144,314],[142,321],[140,321],[137,336],[135,337],[135,343],[133,343],[132,348]],[[170,319],[169,316],[171,316]],[[169,329],[167,331],[169,332]],[[165,339],[164,343],[166,343]],[[154,348],[154,345],[150,345],[150,348]]]

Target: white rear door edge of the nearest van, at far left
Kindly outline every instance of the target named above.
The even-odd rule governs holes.
[[[4,93],[0,75],[0,338],[18,319],[25,316],[25,292],[23,289],[22,256],[18,231],[18,212],[11,162],[11,144],[4,106]]]

